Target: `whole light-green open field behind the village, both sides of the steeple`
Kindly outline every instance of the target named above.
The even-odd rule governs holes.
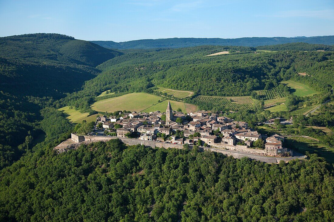
[[[92,105],[92,109],[98,112],[115,112],[118,110],[128,111],[166,111],[167,100],[158,103],[158,100],[162,101],[164,98],[157,95],[147,93],[129,93],[123,96],[103,99],[95,102]],[[176,110],[181,108],[182,111],[186,110],[195,111],[197,107],[191,104],[185,104],[183,102],[170,101],[172,108]],[[154,105],[153,105],[154,104]]]

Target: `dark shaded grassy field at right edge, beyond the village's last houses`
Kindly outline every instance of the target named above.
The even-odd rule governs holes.
[[[288,148],[305,154],[306,151],[324,157],[327,162],[334,163],[334,148],[304,137],[287,137],[285,143]]]

